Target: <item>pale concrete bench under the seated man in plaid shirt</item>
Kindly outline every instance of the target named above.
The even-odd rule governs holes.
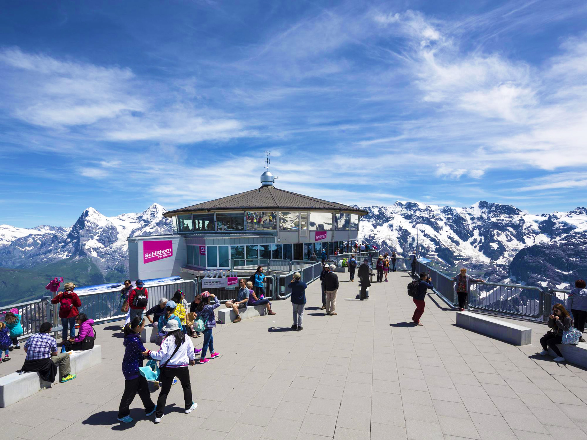
[[[74,351],[69,355],[69,364],[72,373],[78,374],[80,371],[87,370],[102,362],[102,347],[94,346],[92,350]],[[55,382],[59,381],[59,371],[55,377]],[[0,377],[0,408],[6,408],[8,405],[15,404],[33,394],[38,393],[43,388],[50,388],[49,383],[39,376],[39,373],[11,373]]]

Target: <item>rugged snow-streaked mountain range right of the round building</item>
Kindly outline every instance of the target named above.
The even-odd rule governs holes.
[[[369,215],[360,223],[360,239],[403,256],[418,242],[420,256],[453,272],[465,265],[492,280],[561,288],[587,269],[585,208],[532,215],[480,201],[468,208],[396,202],[363,209]],[[547,259],[552,268],[545,271],[540,261]]]

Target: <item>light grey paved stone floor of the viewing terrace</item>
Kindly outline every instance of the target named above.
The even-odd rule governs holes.
[[[137,397],[131,424],[116,412],[124,387],[119,324],[98,326],[103,361],[0,409],[2,439],[203,438],[270,440],[587,439],[587,371],[534,356],[454,326],[455,312],[426,299],[424,326],[407,324],[413,303],[405,273],[355,300],[357,282],[339,274],[338,316],[318,310],[308,287],[303,331],[291,326],[289,301],[275,316],[218,326],[221,357],[190,368],[198,408],[183,414],[181,387],[155,425]],[[539,337],[543,324],[528,324]],[[194,340],[201,345],[202,338]],[[148,344],[156,348],[154,344]],[[18,369],[22,350],[0,365]],[[153,394],[156,400],[157,392]]]

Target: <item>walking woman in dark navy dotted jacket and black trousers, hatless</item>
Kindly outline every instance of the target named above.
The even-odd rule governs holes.
[[[122,374],[124,374],[124,392],[120,399],[118,407],[118,420],[124,423],[130,423],[133,418],[130,417],[130,404],[134,397],[139,394],[147,417],[149,417],[157,405],[151,400],[149,383],[147,379],[140,374],[139,368],[143,366],[143,358],[149,354],[143,341],[141,333],[145,327],[144,319],[138,316],[124,326],[124,357],[122,359]]]

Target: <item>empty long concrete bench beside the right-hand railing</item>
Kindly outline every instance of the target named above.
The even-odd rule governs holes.
[[[486,334],[515,346],[525,346],[532,343],[532,330],[528,327],[479,313],[457,312],[457,326]]]

